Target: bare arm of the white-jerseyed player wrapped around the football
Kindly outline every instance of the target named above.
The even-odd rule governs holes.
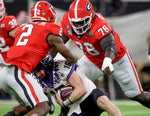
[[[71,103],[76,102],[77,100],[81,99],[87,92],[82,79],[75,71],[68,79],[68,82],[74,88],[73,92],[70,94],[69,98],[67,99],[68,101],[67,100],[62,101],[58,93],[55,94],[55,100],[61,106],[68,106]],[[66,101],[67,103],[65,103]]]

